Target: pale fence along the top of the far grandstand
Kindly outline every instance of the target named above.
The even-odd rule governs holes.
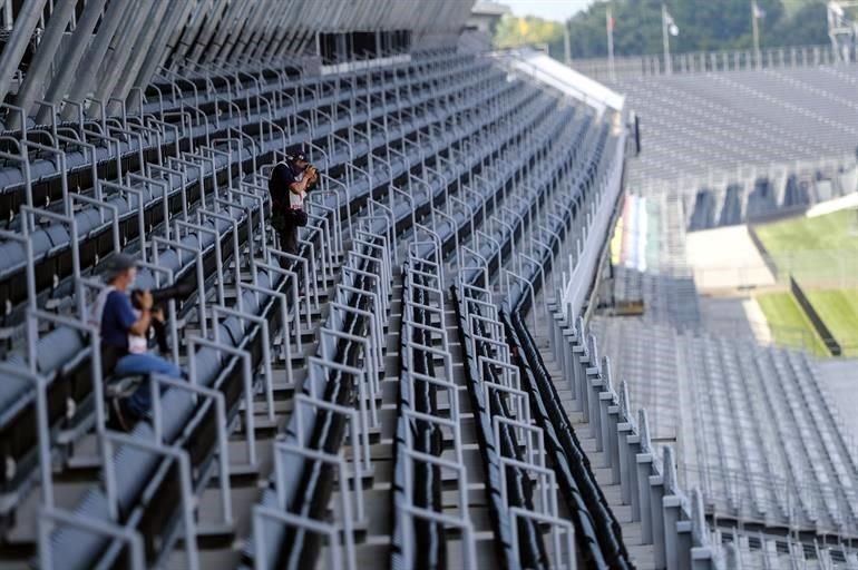
[[[671,55],[670,71],[663,55],[614,58],[614,73],[606,58],[576,59],[572,67],[582,73],[601,80],[628,80],[677,73],[705,73],[711,71],[743,71],[749,69],[786,69],[807,66],[833,65],[838,57],[831,46],[798,46],[771,48],[754,58],[752,50],[695,51]],[[849,60],[851,62],[851,59]]]

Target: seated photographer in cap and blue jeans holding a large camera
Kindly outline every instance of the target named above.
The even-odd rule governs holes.
[[[126,254],[114,255],[105,276],[108,286],[98,296],[94,311],[100,323],[105,373],[116,376],[160,374],[181,379],[183,374],[178,366],[148,353],[149,327],[156,321],[163,325],[164,315],[159,309],[153,312],[152,293],[148,291],[135,292],[135,303],[131,303],[128,292],[136,276],[137,264],[133,257]],[[156,336],[164,351],[164,328],[160,326],[158,330],[160,332]],[[128,431],[150,409],[149,384],[142,382],[131,395],[113,401],[111,422],[116,428]]]

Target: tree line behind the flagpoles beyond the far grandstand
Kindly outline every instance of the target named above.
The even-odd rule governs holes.
[[[614,21],[614,55],[640,56],[662,51],[661,0],[596,0],[566,22],[572,57],[607,56],[608,3]],[[753,45],[750,0],[667,0],[667,11],[679,27],[671,51],[749,49]],[[828,42],[826,3],[822,0],[757,0],[764,48]],[[563,23],[539,18],[505,16],[495,30],[498,48],[547,45],[557,59],[564,56]]]

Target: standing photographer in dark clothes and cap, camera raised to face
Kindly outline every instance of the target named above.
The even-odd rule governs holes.
[[[318,180],[319,173],[302,151],[286,157],[271,171],[271,225],[277,233],[280,248],[286,253],[298,254],[298,228],[308,222],[304,198]]]

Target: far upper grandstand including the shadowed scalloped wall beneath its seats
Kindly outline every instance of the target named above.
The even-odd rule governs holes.
[[[799,213],[858,188],[858,67],[686,73],[616,88],[642,117],[632,191],[682,197],[689,230]]]

